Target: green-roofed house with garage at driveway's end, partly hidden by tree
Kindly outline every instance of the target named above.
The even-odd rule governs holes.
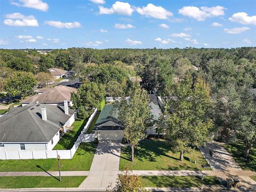
[[[151,96],[151,99],[153,99],[153,96]],[[157,99],[154,99],[154,101],[155,100],[155,103],[149,103],[153,115],[153,118],[151,119],[153,126],[148,127],[147,135],[158,134],[156,132],[157,127],[155,122],[161,116],[162,112],[158,106]],[[96,137],[100,140],[121,140],[123,138],[124,126],[122,122],[116,118],[117,114],[113,113],[113,108],[113,104],[105,105],[94,125],[93,131],[96,133]],[[116,111],[116,113],[118,112]]]

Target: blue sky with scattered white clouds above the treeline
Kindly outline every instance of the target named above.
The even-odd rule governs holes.
[[[255,0],[0,0],[0,48],[256,46],[255,8]]]

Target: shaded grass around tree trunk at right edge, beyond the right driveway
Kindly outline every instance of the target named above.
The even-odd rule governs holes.
[[[248,163],[241,161],[242,154],[245,150],[245,146],[243,145],[242,142],[228,143],[224,145],[224,148],[233,156],[236,163],[238,163],[238,165],[241,166],[243,170],[251,170],[251,171],[256,170],[256,148],[255,147],[252,148],[249,153],[253,161]]]

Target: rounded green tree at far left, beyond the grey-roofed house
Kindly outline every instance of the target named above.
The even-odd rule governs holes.
[[[30,72],[15,71],[4,84],[4,91],[12,97],[24,98],[29,93],[33,92],[36,85],[36,78]]]

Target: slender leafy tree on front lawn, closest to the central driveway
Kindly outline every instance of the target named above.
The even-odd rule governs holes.
[[[145,90],[140,89],[139,83],[133,83],[129,101],[123,98],[116,103],[118,119],[124,125],[124,137],[132,150],[132,161],[134,160],[134,146],[146,137],[146,130],[150,122],[151,111],[149,97]]]

